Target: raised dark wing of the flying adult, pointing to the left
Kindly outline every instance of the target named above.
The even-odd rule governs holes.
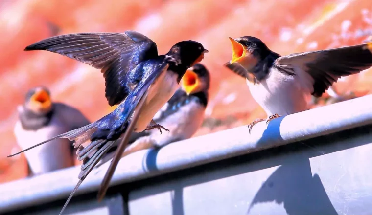
[[[156,44],[136,31],[60,35],[33,43],[24,50],[51,51],[101,69],[110,106],[123,101],[132,86],[138,84],[128,83],[126,74],[141,61],[158,56]]]

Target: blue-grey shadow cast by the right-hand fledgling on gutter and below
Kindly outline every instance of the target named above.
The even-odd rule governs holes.
[[[264,147],[267,143],[272,141],[283,141],[280,136],[280,124],[284,117],[280,117],[271,121],[264,131],[262,138],[257,143],[257,147]],[[367,129],[371,130],[371,126],[360,127],[351,130]],[[351,131],[352,132],[352,131]],[[332,137],[321,136],[314,138],[310,141],[298,141],[291,144],[296,150],[296,145],[300,148],[308,147],[310,150],[304,153],[295,153],[292,156],[285,156],[281,161],[279,168],[273,172],[266,181],[262,184],[261,188],[256,192],[247,214],[254,213],[254,206],[257,203],[275,201],[278,205],[283,204],[284,209],[288,215],[305,215],[305,214],[327,214],[337,215],[328,194],[322,184],[321,178],[318,174],[312,174],[309,158],[325,153],[353,148],[356,146],[368,144],[371,140],[365,142],[347,141],[344,146],[337,146],[338,150],[328,148],[324,150],[321,147],[327,142],[345,140],[350,136],[350,130],[331,134]],[[275,139],[273,139],[275,138]],[[326,140],[329,141],[326,141]],[[343,148],[343,149],[340,149]],[[320,151],[322,149],[322,151]],[[334,149],[334,148],[333,148]],[[283,151],[283,153],[286,153]],[[287,152],[288,154],[290,152]]]

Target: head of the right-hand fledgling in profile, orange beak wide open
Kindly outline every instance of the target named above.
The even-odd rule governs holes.
[[[232,63],[239,63],[247,71],[250,71],[264,59],[271,51],[260,39],[251,36],[232,39],[229,37],[232,45]]]

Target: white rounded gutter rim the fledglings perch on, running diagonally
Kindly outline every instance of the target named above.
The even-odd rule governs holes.
[[[143,150],[122,158],[111,186],[182,170],[213,161],[372,124],[372,95],[314,108],[269,123],[228,129]],[[93,170],[77,194],[96,191],[109,164]],[[0,185],[0,213],[67,198],[80,167],[46,173]]]

